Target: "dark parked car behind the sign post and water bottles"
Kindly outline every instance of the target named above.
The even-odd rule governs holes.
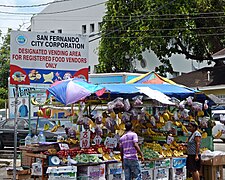
[[[38,122],[38,124],[37,124]],[[37,124],[37,131],[36,131],[36,124]],[[44,125],[49,124],[49,130],[44,131]],[[43,131],[46,139],[49,140],[56,140],[58,135],[66,136],[65,130],[62,128],[60,131],[51,132],[51,129],[56,124],[52,121],[49,121],[45,118],[32,118],[30,121],[30,129],[32,135]],[[0,149],[3,149],[5,146],[13,147],[14,146],[14,119],[8,119],[1,125],[0,128]],[[24,141],[25,137],[29,133],[29,120],[24,118],[17,119],[17,145],[19,146],[22,141]]]

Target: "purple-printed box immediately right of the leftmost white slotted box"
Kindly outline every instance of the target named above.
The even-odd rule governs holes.
[[[105,164],[95,166],[79,166],[78,177],[83,179],[105,179]]]

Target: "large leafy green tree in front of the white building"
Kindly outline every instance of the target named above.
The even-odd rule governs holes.
[[[210,64],[224,47],[224,0],[108,0],[106,7],[98,72],[129,71],[132,58],[148,50],[163,64],[156,71],[173,72],[174,54]]]

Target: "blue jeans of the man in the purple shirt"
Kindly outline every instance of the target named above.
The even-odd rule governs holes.
[[[138,160],[124,159],[125,180],[141,180],[141,167]]]

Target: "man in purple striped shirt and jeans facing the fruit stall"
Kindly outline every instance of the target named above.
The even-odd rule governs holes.
[[[141,180],[141,168],[138,162],[137,153],[140,154],[141,160],[144,161],[143,153],[138,145],[138,136],[132,132],[132,123],[126,122],[126,132],[120,138],[120,153],[123,163],[125,180]]]

